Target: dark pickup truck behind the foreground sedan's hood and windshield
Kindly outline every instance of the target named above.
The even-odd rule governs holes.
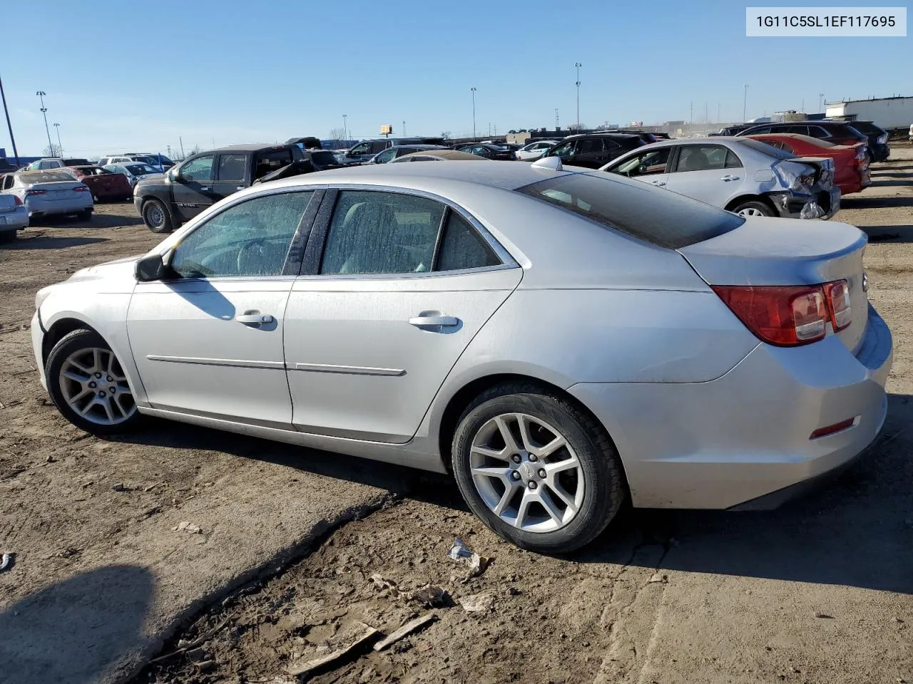
[[[147,176],[133,190],[133,204],[152,233],[176,227],[233,192],[269,175],[313,171],[307,153],[295,144],[231,145],[194,154],[166,173]],[[279,171],[279,173],[277,173]]]

